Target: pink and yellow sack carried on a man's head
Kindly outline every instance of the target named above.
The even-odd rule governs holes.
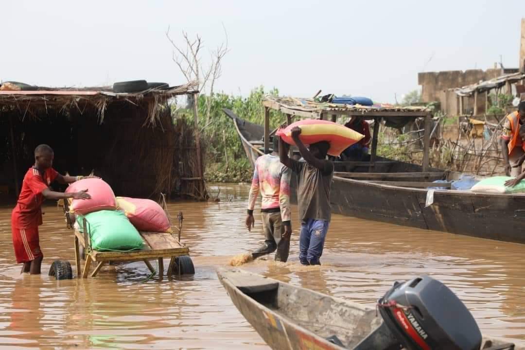
[[[305,119],[288,125],[285,129],[277,131],[276,135],[290,145],[295,145],[291,137],[291,130],[295,126],[301,128],[299,139],[304,144],[328,141],[330,149],[328,154],[338,157],[347,147],[361,140],[364,135],[355,130],[346,128],[328,120]]]

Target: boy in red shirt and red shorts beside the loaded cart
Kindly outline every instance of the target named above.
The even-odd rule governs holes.
[[[17,263],[24,263],[23,273],[40,273],[40,264],[44,254],[40,250],[38,226],[42,225],[40,209],[45,199],[89,199],[87,189],[77,193],[54,192],[49,189],[53,181],[62,184],[73,183],[81,176],[63,176],[53,169],[53,149],[48,145],[39,145],[35,149],[35,165],[24,176],[22,190],[11,214],[11,230]]]

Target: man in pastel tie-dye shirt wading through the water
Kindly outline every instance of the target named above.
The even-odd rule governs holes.
[[[275,253],[276,261],[286,262],[290,251],[290,176],[288,167],[279,160],[279,138],[274,136],[274,151],[257,158],[254,178],[248,198],[246,227],[251,231],[255,225],[255,201],[262,195],[261,218],[265,234],[264,244],[252,253],[253,258]]]

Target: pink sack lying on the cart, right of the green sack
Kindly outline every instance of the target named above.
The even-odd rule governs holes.
[[[173,232],[165,211],[151,199],[117,197],[117,207],[139,231]]]

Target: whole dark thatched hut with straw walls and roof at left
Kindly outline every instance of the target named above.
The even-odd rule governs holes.
[[[179,95],[195,101],[196,89],[191,82],[135,93],[111,87],[0,90],[0,196],[17,195],[35,146],[46,143],[55,150],[57,171],[95,171],[116,195],[206,197],[198,130],[194,134],[187,120],[175,122],[169,103]]]

